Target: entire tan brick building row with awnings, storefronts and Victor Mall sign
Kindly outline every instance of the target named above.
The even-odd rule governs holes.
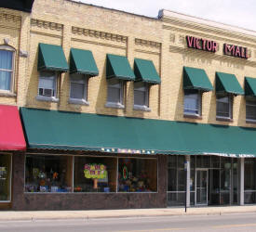
[[[256,202],[256,32],[70,0],[0,28],[1,208]]]

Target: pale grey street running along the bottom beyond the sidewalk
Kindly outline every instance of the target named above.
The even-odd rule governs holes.
[[[256,213],[0,222],[1,232],[256,231]]]

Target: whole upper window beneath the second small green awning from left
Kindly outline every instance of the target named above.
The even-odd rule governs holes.
[[[83,74],[70,76],[70,103],[88,103],[88,77]]]

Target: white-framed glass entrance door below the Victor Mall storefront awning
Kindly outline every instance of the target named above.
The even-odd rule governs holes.
[[[195,205],[208,205],[208,169],[195,171]]]

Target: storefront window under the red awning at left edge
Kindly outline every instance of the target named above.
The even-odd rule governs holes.
[[[11,155],[0,154],[0,201],[10,200]]]

